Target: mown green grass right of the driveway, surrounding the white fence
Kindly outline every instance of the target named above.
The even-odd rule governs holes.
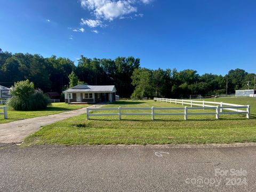
[[[216,101],[251,105],[251,119],[246,119],[245,115],[220,115],[220,119],[216,120],[214,115],[199,115],[188,116],[187,121],[183,120],[183,116],[156,116],[156,120],[151,121],[150,116],[122,116],[119,121],[118,116],[103,116],[86,121],[86,114],[83,114],[43,127],[26,138],[23,146],[256,142],[256,98],[217,98]],[[180,105],[118,101],[105,107],[119,106]]]

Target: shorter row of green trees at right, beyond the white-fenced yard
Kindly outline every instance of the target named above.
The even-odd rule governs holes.
[[[207,73],[199,75],[192,69],[138,68],[132,75],[132,85],[135,86],[132,97],[188,98],[190,94],[211,96],[225,94],[226,91],[230,94],[235,93],[235,90],[253,89],[254,79],[255,74],[243,69],[232,69],[222,76]],[[250,87],[247,82],[251,83]]]

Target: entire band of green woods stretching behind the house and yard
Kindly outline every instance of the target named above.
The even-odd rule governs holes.
[[[239,89],[253,89],[255,74],[243,69],[232,69],[227,75],[203,74],[186,69],[147,69],[140,67],[140,59],[90,59],[81,55],[74,61],[55,55],[44,58],[39,54],[10,53],[0,49],[0,84],[29,79],[36,89],[59,92],[67,89],[70,77],[90,85],[115,85],[117,94],[125,98],[164,97],[186,98],[190,94],[205,96],[225,94]],[[251,85],[248,87],[247,82]]]

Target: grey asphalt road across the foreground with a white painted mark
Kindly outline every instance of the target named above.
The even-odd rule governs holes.
[[[256,191],[256,145],[0,147],[0,191]]]

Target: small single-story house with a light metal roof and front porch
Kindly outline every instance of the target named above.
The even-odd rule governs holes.
[[[115,85],[76,85],[63,93],[66,103],[98,103],[116,100]]]

